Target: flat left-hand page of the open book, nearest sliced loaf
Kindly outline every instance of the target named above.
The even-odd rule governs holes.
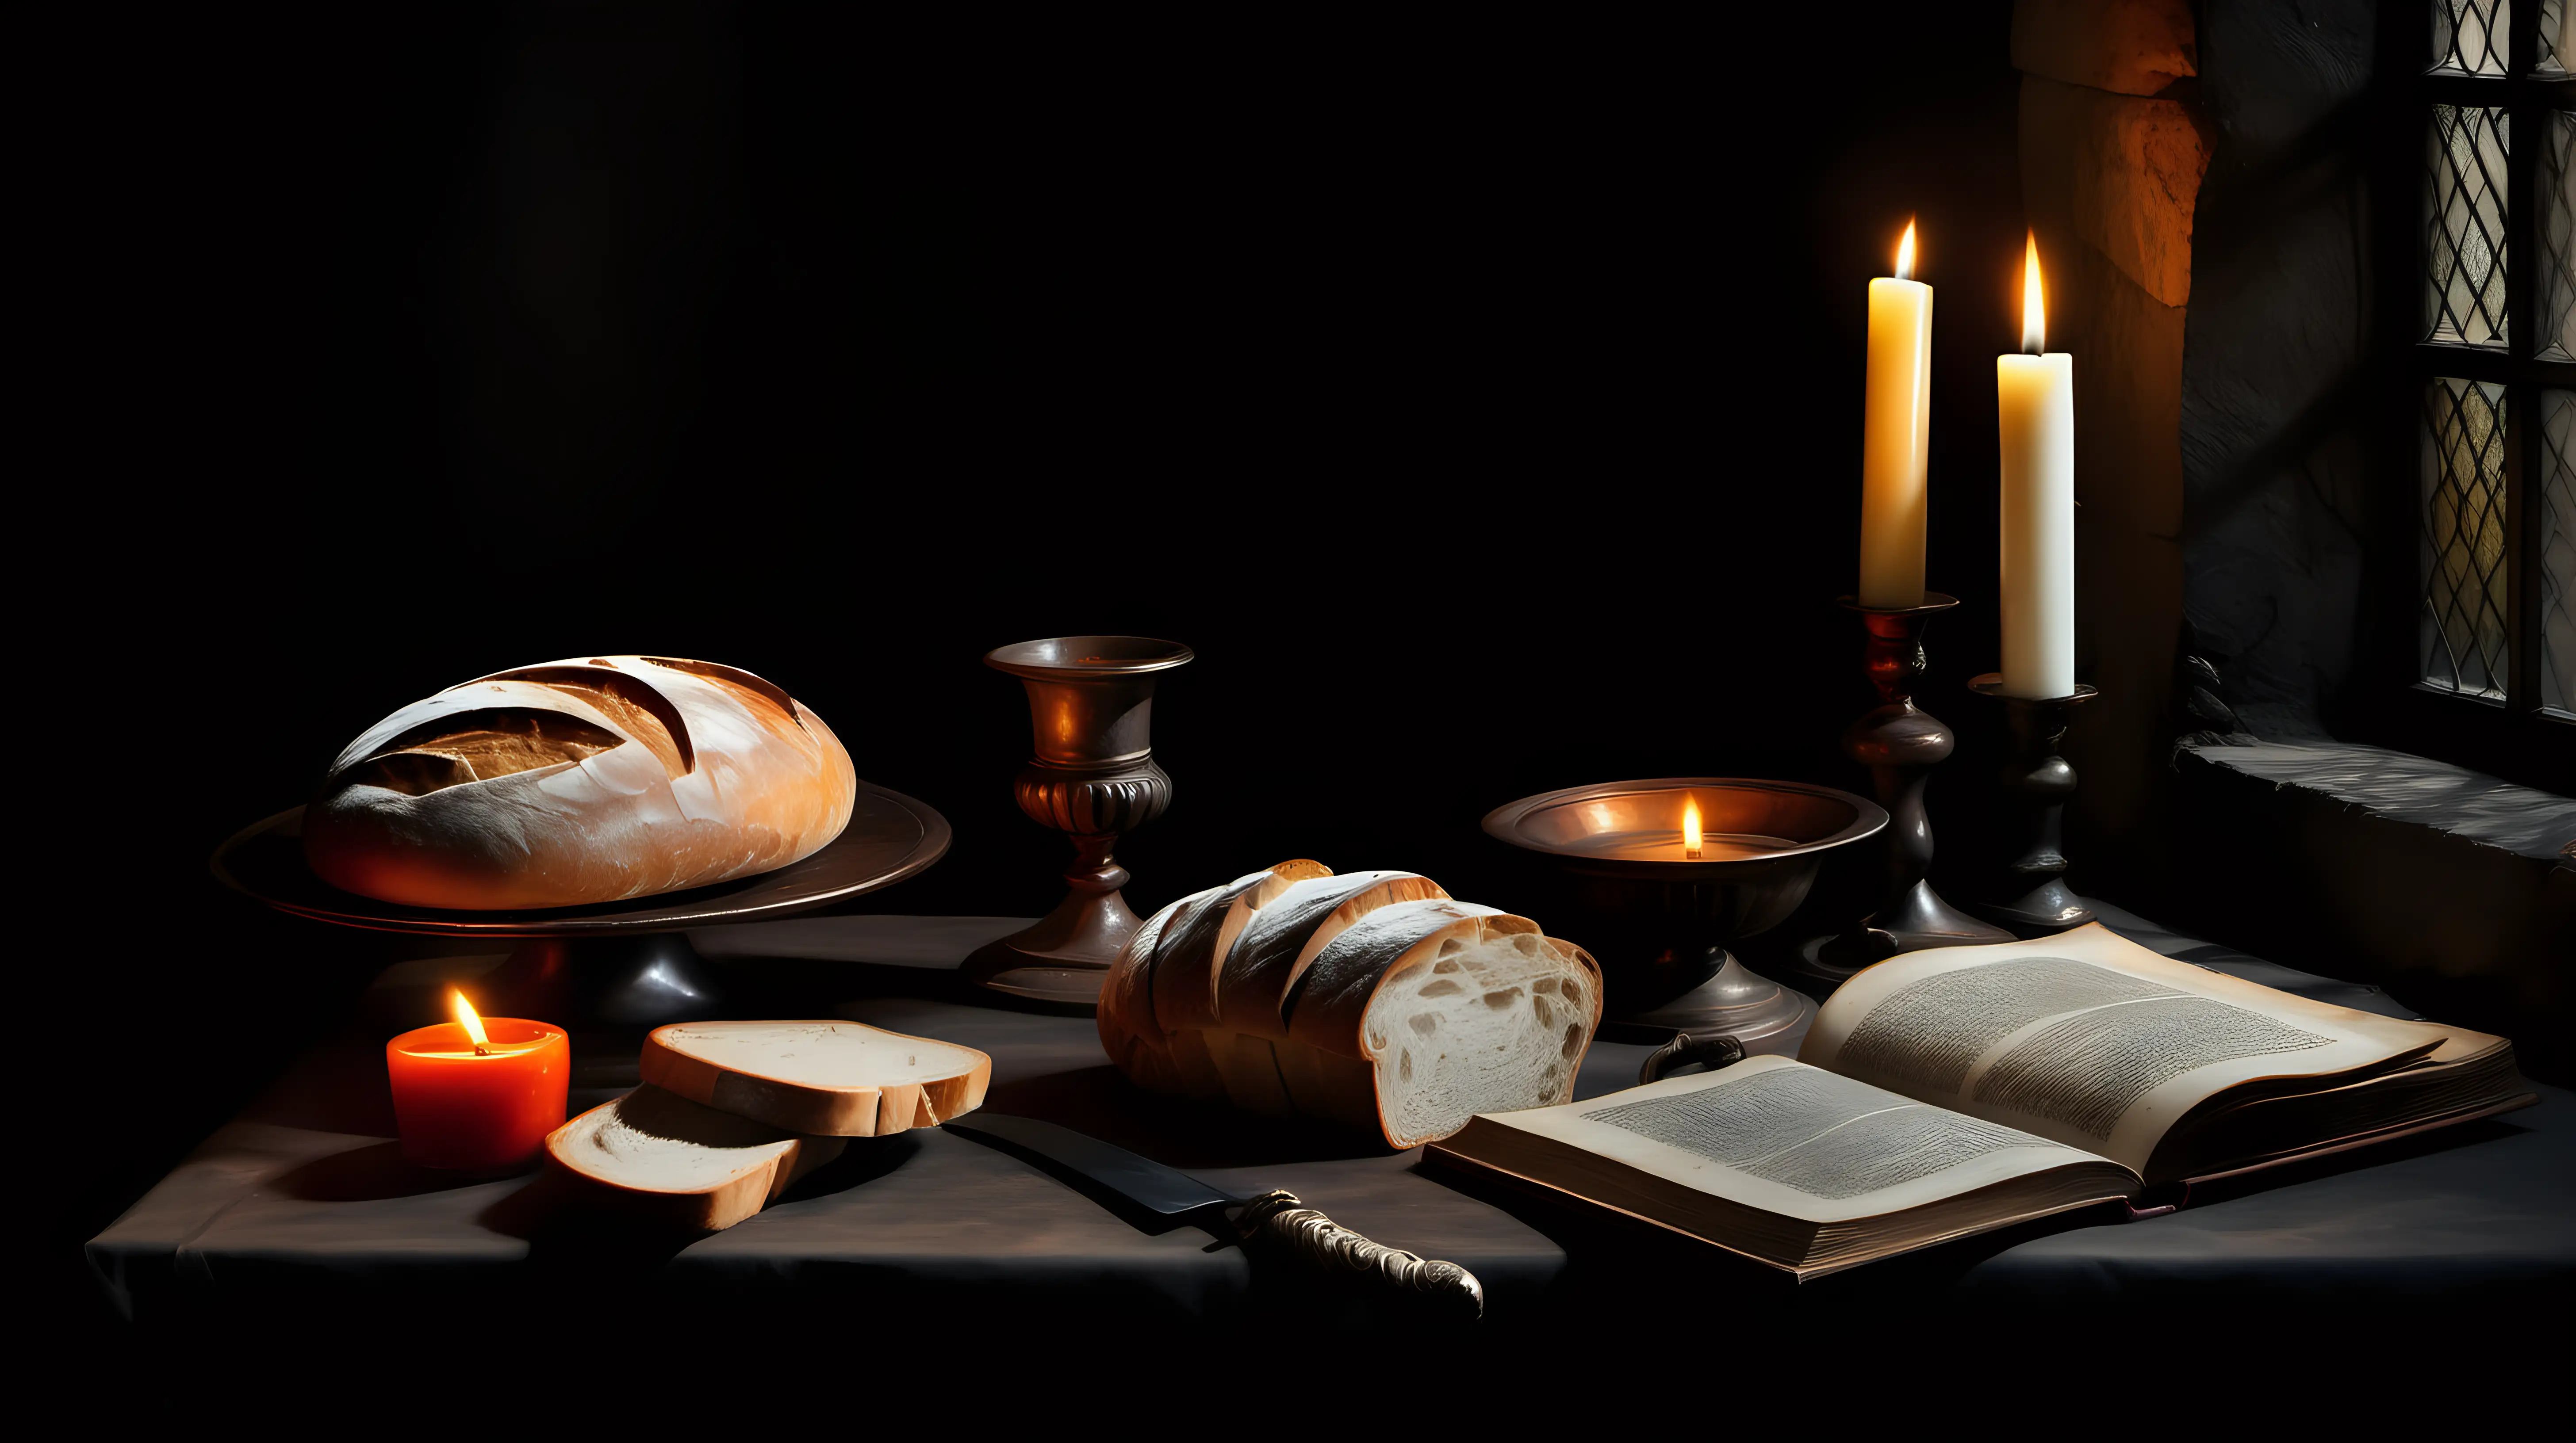
[[[2071,1147],[1785,1056],[1749,1056],[1589,1103],[1484,1116],[1806,1221],[1891,1214],[2089,1162]]]

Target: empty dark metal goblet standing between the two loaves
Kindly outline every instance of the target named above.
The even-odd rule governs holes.
[[[1012,799],[1074,843],[1074,866],[1054,912],[966,959],[961,974],[976,987],[1069,1010],[1100,1002],[1110,961],[1136,935],[1118,894],[1128,871],[1110,848],[1172,807],[1172,778],[1154,765],[1154,680],[1190,657],[1151,636],[1048,636],[984,657],[1028,688],[1036,755]]]

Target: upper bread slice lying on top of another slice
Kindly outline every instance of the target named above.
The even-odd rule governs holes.
[[[670,1023],[644,1038],[644,1082],[809,1136],[886,1136],[984,1105],[992,1056],[868,1023]]]

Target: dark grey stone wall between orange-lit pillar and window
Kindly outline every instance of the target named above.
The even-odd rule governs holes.
[[[2367,541],[2378,490],[2403,484],[2370,356],[2378,23],[2370,0],[2202,15],[2218,147],[2182,356],[2184,611],[2233,719],[2272,742],[2354,729]]]

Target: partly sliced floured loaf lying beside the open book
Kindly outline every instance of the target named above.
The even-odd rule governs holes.
[[[1417,1147],[1571,1100],[1600,1010],[1600,966],[1538,922],[1301,861],[1146,917],[1100,1044],[1141,1087]]]

